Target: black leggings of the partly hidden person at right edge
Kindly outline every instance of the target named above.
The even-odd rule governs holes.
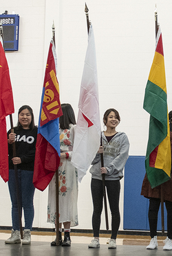
[[[165,201],[167,211],[167,237],[172,239],[172,202]],[[157,235],[158,210],[160,208],[160,199],[149,199],[149,227],[151,238]]]

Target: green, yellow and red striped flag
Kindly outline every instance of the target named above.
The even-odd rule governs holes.
[[[171,175],[169,115],[160,27],[156,37],[155,56],[145,89],[143,108],[150,114],[145,167],[151,188],[155,188],[168,181]]]

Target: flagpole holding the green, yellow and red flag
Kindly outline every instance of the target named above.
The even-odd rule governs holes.
[[[158,12],[155,5],[155,37],[157,37],[158,34]],[[164,236],[164,184],[161,184],[160,187],[161,192],[161,225],[162,225],[162,236]]]

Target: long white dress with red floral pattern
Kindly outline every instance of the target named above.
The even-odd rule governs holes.
[[[71,164],[74,143],[74,125],[69,129],[60,129],[61,152],[67,152],[69,158],[61,159],[58,167],[58,201],[59,223],[71,222],[71,227],[78,225],[78,173]],[[49,184],[47,222],[55,223],[56,220],[56,174]]]

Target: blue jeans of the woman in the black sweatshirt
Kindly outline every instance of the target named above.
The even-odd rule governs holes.
[[[25,217],[25,229],[32,230],[32,223],[34,219],[34,185],[32,182],[32,171],[17,170],[19,181],[19,193],[21,200],[21,212],[22,208]],[[17,190],[14,170],[9,170],[8,188],[10,191],[10,197],[12,201],[12,228],[14,230],[20,230],[19,226],[19,214],[17,207]]]

